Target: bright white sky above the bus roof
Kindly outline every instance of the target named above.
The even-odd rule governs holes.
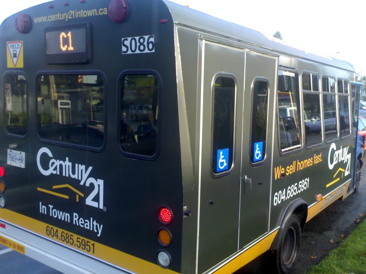
[[[172,1],[270,36],[279,31],[287,44],[349,61],[366,75],[366,35],[363,33],[366,0]],[[48,0],[13,0],[11,4],[1,0],[0,22],[43,2]]]

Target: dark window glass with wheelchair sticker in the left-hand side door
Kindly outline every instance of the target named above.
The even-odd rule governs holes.
[[[236,83],[231,77],[219,76],[213,86],[212,172],[231,169],[234,152]]]

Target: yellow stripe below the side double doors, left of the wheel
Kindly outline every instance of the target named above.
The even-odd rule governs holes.
[[[226,265],[224,265],[222,268],[214,272],[214,274],[229,274],[237,271],[238,269],[242,268],[246,264],[250,263],[257,257],[259,257],[261,254],[269,250],[271,247],[271,244],[274,240],[274,237],[276,236],[278,232],[278,229],[273,231],[271,234],[263,238],[261,241],[253,245],[248,250],[244,251],[242,254],[240,254],[235,259],[228,262]]]

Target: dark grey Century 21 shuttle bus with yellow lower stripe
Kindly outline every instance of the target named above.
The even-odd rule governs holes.
[[[168,0],[54,0],[0,41],[0,242],[62,273],[290,273],[358,190],[346,61]]]

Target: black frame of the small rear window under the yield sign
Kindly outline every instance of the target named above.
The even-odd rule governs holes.
[[[25,85],[27,87],[26,90],[26,109],[27,109],[27,125],[26,125],[26,133],[25,135],[16,135],[16,134],[12,134],[9,133],[6,129],[6,99],[5,99],[5,92],[2,92],[2,101],[3,101],[3,123],[4,123],[4,131],[5,131],[5,135],[8,137],[12,137],[15,139],[25,139],[28,136],[28,132],[29,132],[29,82],[28,82],[28,76],[24,71],[21,70],[7,70],[5,71],[5,73],[2,75],[2,91],[4,91],[4,87],[5,87],[5,77],[7,75],[22,75],[25,78]]]

